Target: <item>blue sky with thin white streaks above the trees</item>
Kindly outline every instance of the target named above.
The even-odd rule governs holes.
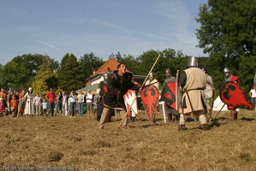
[[[207,0],[0,0],[0,63],[15,56],[47,54],[61,62],[93,53],[142,55],[182,50],[207,56],[195,32],[200,4]]]

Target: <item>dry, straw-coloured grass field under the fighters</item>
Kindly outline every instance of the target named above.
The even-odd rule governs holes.
[[[216,113],[214,113],[216,115]],[[94,117],[2,117],[0,165],[74,167],[76,170],[256,170],[256,112],[241,110],[238,121],[221,112],[211,130],[199,121],[178,132],[176,122],[146,121],[117,129],[115,116],[104,130]]]

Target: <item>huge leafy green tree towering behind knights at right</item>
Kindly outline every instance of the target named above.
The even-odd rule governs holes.
[[[223,84],[223,68],[228,67],[231,74],[241,78],[241,87],[247,91],[256,67],[256,1],[209,0],[199,8],[196,21],[201,24],[196,32],[198,47],[209,53],[205,65],[216,87]]]

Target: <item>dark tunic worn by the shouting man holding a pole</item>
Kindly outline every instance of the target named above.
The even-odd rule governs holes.
[[[121,91],[122,96],[126,94],[128,89],[139,91],[139,86],[134,85],[132,82],[133,74],[126,73],[120,77],[117,71],[114,71],[113,74],[107,80],[107,89],[108,91],[104,95],[104,107],[110,109],[125,109],[125,103],[123,97],[120,97],[117,100],[117,92]]]

